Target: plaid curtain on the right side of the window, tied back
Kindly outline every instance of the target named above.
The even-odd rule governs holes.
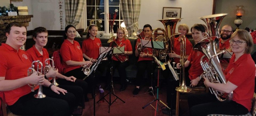
[[[138,19],[141,9],[141,0],[120,0],[120,11],[122,14],[123,22],[125,23],[128,31],[128,36],[139,29]]]

